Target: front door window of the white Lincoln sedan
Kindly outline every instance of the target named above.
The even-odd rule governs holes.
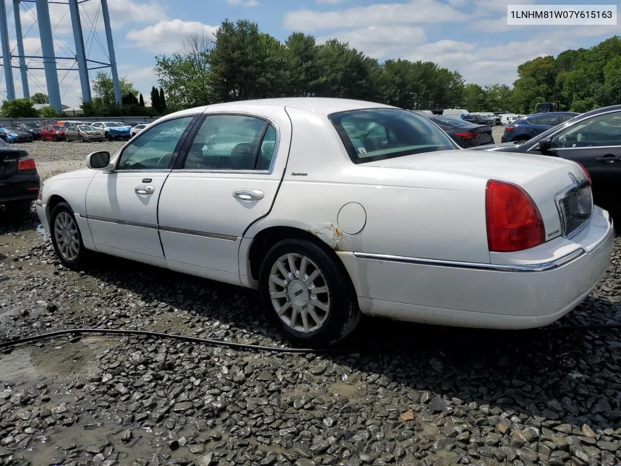
[[[117,170],[163,170],[168,168],[173,152],[194,115],[163,121],[140,132],[124,148]]]

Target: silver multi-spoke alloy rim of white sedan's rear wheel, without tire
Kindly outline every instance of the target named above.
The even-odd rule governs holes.
[[[319,330],[330,312],[330,290],[324,275],[302,254],[278,258],[270,270],[274,311],[291,329],[308,334]]]

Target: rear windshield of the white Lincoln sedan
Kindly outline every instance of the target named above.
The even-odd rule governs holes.
[[[457,148],[427,118],[407,110],[353,110],[332,114],[330,121],[354,163]]]

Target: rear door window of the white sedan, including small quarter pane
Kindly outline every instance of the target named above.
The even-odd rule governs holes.
[[[271,164],[275,142],[276,130],[263,119],[210,115],[197,131],[183,168],[266,170]]]

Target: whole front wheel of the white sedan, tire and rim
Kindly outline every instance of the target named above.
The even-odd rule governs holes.
[[[84,247],[73,211],[69,204],[56,204],[50,216],[52,245],[60,262],[74,270],[81,268],[88,258],[89,251]]]

